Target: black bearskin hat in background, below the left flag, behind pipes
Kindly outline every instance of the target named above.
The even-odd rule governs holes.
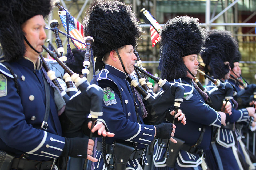
[[[75,59],[75,62],[66,63],[66,65],[75,73],[82,74],[84,54],[83,52],[78,51],[77,49],[72,49],[72,53]]]

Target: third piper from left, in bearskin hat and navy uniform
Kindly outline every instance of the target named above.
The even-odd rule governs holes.
[[[176,125],[177,144],[170,147],[169,159],[161,156],[164,143],[155,143],[154,169],[207,169],[207,165],[210,169],[217,169],[211,150],[211,131],[213,127],[225,125],[226,115],[206,104],[207,94],[193,80],[197,74],[197,54],[205,43],[206,32],[199,27],[198,19],[181,16],[168,20],[160,36],[161,78],[180,82],[185,88],[180,108],[186,115],[187,124]],[[231,111],[231,107],[226,108]]]

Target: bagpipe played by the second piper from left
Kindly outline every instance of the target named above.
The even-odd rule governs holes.
[[[157,125],[162,123],[165,119],[169,122],[172,121],[172,123],[175,122],[175,114],[177,114],[178,109],[180,107],[180,102],[183,101],[185,88],[178,82],[176,83],[170,83],[166,79],[162,80],[158,77],[155,77],[154,75],[148,73],[146,69],[142,67],[142,61],[140,60],[140,57],[136,50],[134,49],[134,53],[137,56],[137,64],[140,66],[134,65],[134,70],[136,75],[138,76],[138,81],[135,79],[132,79],[130,76],[128,76],[127,80],[131,83],[133,87],[136,88],[137,91],[141,93],[144,100],[146,101],[145,107],[148,112],[147,117],[143,119],[145,124],[149,125]],[[140,75],[140,73],[143,74],[143,77]],[[159,91],[157,94],[155,94],[150,88],[152,87],[151,83],[148,82],[147,76],[153,79],[157,84],[159,84],[159,87],[162,88],[161,91]],[[146,82],[147,81],[147,82]],[[151,85],[149,88],[148,85]],[[153,89],[153,88],[152,88]],[[170,112],[169,109],[174,104],[174,116],[173,120],[170,118],[168,119]],[[165,158],[169,158],[169,148],[170,148],[170,140],[168,140],[166,145],[166,152],[164,154]]]

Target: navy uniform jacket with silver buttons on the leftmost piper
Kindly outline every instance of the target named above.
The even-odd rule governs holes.
[[[19,94],[13,76],[3,64],[17,75]],[[54,102],[54,88],[50,86],[49,126],[47,130],[41,129],[46,107],[41,59],[37,64],[28,58],[3,64],[0,65],[0,149],[14,152],[17,157],[26,152],[30,160],[58,158],[65,139]]]

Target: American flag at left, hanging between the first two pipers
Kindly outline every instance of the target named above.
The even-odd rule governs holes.
[[[63,24],[63,27],[65,28],[67,32],[67,16],[70,15],[68,11],[60,11],[59,13],[59,18],[61,18],[61,22]],[[63,15],[66,14],[66,15]],[[71,37],[74,37],[75,39],[85,43],[83,39],[83,25],[78,22],[74,17],[70,15],[70,21],[69,21],[69,34]],[[73,40],[77,48],[86,48],[84,44],[79,43],[78,41]]]

